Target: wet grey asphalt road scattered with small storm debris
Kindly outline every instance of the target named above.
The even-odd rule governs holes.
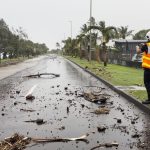
[[[56,73],[60,77],[23,77],[38,72]],[[109,114],[92,113],[101,105],[77,97],[76,92],[81,92],[87,86],[103,87],[103,93],[110,95],[107,104]],[[27,101],[25,95],[32,87],[35,87],[35,99]],[[25,112],[21,109],[35,111]],[[34,138],[88,135],[88,143],[45,143],[32,145],[26,150],[90,150],[99,144],[112,142],[117,142],[119,146],[108,150],[150,149],[149,115],[61,57],[54,60],[43,58],[38,65],[1,80],[0,112],[0,140],[14,133]],[[25,122],[38,118],[44,119],[45,124]],[[117,119],[121,119],[121,123],[117,123]],[[103,125],[105,132],[98,132],[98,127]]]

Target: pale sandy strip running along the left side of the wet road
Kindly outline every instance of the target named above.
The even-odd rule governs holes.
[[[8,76],[11,76],[21,70],[35,66],[38,63],[38,60],[41,60],[44,57],[46,57],[46,56],[39,56],[39,57],[36,57],[33,59],[28,59],[24,62],[15,64],[15,65],[8,65],[6,67],[0,67],[0,80],[6,78]]]

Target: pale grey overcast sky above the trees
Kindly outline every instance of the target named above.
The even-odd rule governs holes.
[[[92,0],[92,16],[106,25],[150,28],[150,0]],[[0,18],[9,27],[22,27],[34,42],[52,49],[75,37],[90,17],[90,0],[0,0]]]

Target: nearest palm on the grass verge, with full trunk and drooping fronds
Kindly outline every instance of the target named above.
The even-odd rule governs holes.
[[[89,30],[94,29],[98,30],[101,33],[101,41],[102,41],[102,50],[103,50],[103,61],[104,66],[107,66],[108,62],[108,55],[107,55],[107,46],[106,43],[109,42],[110,39],[113,38],[113,32],[116,32],[116,28],[113,26],[107,26],[105,24],[105,21],[100,21],[98,25],[91,26]]]

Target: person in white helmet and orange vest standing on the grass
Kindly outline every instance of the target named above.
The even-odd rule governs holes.
[[[148,96],[148,99],[142,104],[150,104],[150,31],[146,34],[146,39],[146,43],[136,46],[136,52],[143,53],[142,68],[144,69],[144,85]]]

